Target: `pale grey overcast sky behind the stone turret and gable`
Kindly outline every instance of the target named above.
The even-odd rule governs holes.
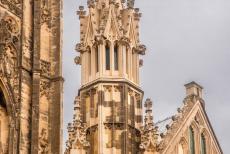
[[[76,10],[86,0],[64,0],[64,142],[80,87],[75,65],[79,42]],[[176,113],[185,97],[184,84],[204,87],[206,111],[224,153],[230,153],[230,1],[136,0],[143,13],[141,42],[147,46],[141,68],[145,99],[154,102],[155,121]]]

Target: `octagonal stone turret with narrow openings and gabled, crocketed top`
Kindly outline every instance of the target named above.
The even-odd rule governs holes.
[[[88,0],[79,7],[81,88],[68,126],[66,153],[137,153],[143,91],[139,87],[139,9],[134,0]]]

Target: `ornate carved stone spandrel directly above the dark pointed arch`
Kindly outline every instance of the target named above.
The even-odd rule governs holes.
[[[14,93],[17,102],[19,98],[19,77],[17,47],[19,44],[20,27],[11,16],[0,20],[0,76],[4,78]]]

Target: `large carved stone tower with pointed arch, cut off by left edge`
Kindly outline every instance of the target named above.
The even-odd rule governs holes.
[[[0,153],[62,147],[61,0],[0,0]]]

